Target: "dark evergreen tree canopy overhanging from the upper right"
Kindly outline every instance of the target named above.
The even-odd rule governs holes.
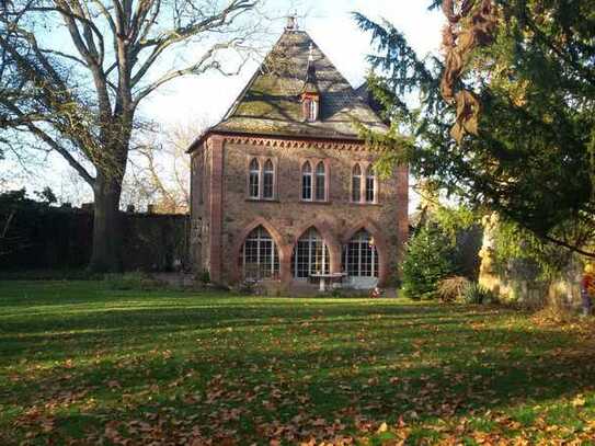
[[[385,163],[409,161],[449,193],[594,256],[595,1],[430,5],[440,7],[444,54],[425,58],[390,23],[356,14],[374,44],[369,83],[393,123],[388,137],[368,137],[405,147]]]

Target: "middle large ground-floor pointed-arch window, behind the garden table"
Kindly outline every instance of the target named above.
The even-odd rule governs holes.
[[[329,248],[320,233],[310,228],[300,237],[294,249],[291,273],[295,278],[308,278],[311,274],[329,274],[331,267]]]

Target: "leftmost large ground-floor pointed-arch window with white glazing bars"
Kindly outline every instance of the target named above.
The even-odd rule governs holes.
[[[243,276],[251,279],[276,278],[279,275],[277,245],[266,229],[259,226],[247,237],[240,254]]]

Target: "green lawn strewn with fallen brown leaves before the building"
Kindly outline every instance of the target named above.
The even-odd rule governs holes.
[[[1,445],[595,444],[590,323],[100,282],[0,302]]]

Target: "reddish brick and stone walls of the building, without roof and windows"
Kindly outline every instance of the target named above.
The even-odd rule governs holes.
[[[290,262],[297,240],[311,227],[329,248],[331,272],[343,271],[343,245],[366,229],[378,252],[378,284],[386,285],[397,274],[409,230],[409,173],[401,167],[391,178],[378,179],[377,203],[353,203],[354,163],[367,167],[377,157],[362,141],[211,133],[203,137],[192,157],[192,250],[196,270],[209,271],[211,281],[241,281],[241,249],[259,226],[277,245],[278,278],[284,285],[294,281]],[[249,198],[248,165],[253,158],[271,159],[275,164],[272,201]],[[305,160],[312,160],[312,169],[324,162],[327,201],[301,201]]]

